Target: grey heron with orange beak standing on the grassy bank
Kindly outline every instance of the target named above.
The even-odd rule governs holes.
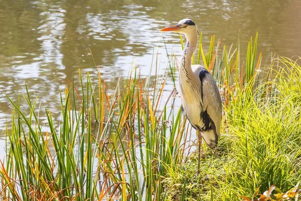
[[[221,136],[222,100],[211,73],[202,65],[191,65],[191,58],[198,41],[198,29],[191,19],[181,20],[177,25],[160,30],[184,34],[186,45],[181,56],[179,85],[182,112],[197,130],[199,141],[198,170],[202,153],[202,138],[212,150]]]

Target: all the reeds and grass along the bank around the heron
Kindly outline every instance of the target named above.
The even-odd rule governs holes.
[[[279,189],[291,189],[286,194],[297,200],[301,67],[295,60],[272,58],[263,68],[256,53],[257,35],[249,42],[246,59],[240,56],[239,41],[236,48],[222,50],[219,41],[214,44],[213,36],[203,52],[201,35],[194,61],[203,61],[219,83],[223,135],[215,152],[203,146],[198,177],[196,154],[189,151],[194,131],[174,106],[176,89],[163,96],[167,80],[177,83],[179,61],[169,56],[163,75],[142,78],[133,68],[115,90],[106,87],[100,69],[98,81],[79,72],[79,80],[61,93],[61,122],[53,120],[50,110],[40,110],[28,91],[17,103],[8,97],[14,106],[13,124],[7,126],[7,156],[0,163],[0,196],[255,200],[270,189],[265,195],[269,198],[258,200],[272,200]],[[22,113],[21,98],[30,114]]]

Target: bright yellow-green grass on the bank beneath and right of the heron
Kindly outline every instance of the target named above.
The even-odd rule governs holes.
[[[170,172],[165,183],[172,197],[181,197],[185,180],[188,200],[199,194],[201,200],[240,200],[251,198],[257,187],[260,193],[271,185],[285,192],[301,180],[301,67],[286,58],[279,62],[290,73],[279,68],[269,83],[277,91],[273,96],[261,97],[263,83],[241,107],[235,107],[239,99],[225,107],[222,138],[214,153],[204,146],[200,176],[194,177],[195,154]]]

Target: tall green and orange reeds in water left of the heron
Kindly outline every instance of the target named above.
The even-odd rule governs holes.
[[[79,85],[72,81],[61,93],[61,122],[54,122],[46,109],[46,125],[37,117],[42,112],[35,109],[37,98],[32,104],[27,87],[23,98],[31,108],[29,117],[21,111],[21,96],[17,105],[8,97],[14,115],[12,129],[6,132],[10,148],[6,167],[0,170],[1,196],[17,200],[141,200],[145,196],[150,200],[156,193],[160,200],[163,186],[158,179],[181,160],[185,125],[178,113],[169,128],[167,117],[177,109],[160,108],[167,76],[168,70],[156,76],[155,84],[147,84],[133,69],[124,85],[119,81],[116,90],[108,93],[100,72],[99,86],[94,87],[89,73],[84,83],[79,71]]]

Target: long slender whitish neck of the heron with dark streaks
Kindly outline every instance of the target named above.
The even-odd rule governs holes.
[[[188,76],[191,76],[193,73],[191,69],[191,57],[197,46],[197,32],[185,34],[185,37],[187,42],[181,57],[180,73],[187,73]]]

